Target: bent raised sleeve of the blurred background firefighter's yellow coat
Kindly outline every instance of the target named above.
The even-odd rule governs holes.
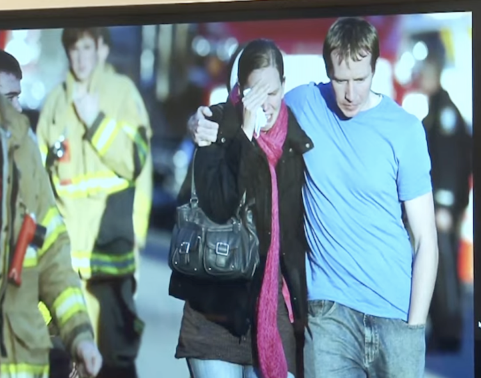
[[[149,126],[137,88],[130,80],[122,80],[119,118],[101,111],[85,137],[112,171],[134,181],[150,150]]]

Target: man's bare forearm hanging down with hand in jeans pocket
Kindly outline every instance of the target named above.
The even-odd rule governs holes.
[[[438,266],[437,238],[419,243],[414,256],[409,324],[425,324],[436,283]]]

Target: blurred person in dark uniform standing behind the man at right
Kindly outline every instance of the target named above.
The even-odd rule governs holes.
[[[430,350],[456,351],[463,335],[461,283],[457,276],[459,224],[469,199],[471,136],[448,92],[441,86],[444,52],[432,49],[419,68],[421,91],[429,97],[422,123],[431,156],[439,267],[429,311]],[[439,51],[441,50],[441,51]]]

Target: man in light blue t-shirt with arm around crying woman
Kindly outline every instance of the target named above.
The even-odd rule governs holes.
[[[304,154],[306,378],[424,375],[438,261],[430,157],[421,122],[371,90],[378,57],[376,29],[340,19],[324,42],[331,81],[285,95],[314,144]],[[203,112],[189,126],[199,145],[217,138]]]

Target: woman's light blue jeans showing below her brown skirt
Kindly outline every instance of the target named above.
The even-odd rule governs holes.
[[[188,358],[187,364],[192,378],[262,378],[261,372],[254,366],[217,359]],[[288,373],[286,378],[294,378],[294,375]]]

